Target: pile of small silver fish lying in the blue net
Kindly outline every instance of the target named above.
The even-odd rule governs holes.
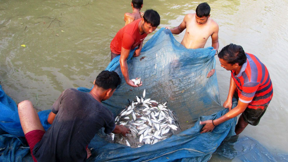
[[[115,118],[118,125],[130,128],[131,133],[123,137],[121,134],[110,134],[115,143],[124,144],[132,148],[144,144],[155,144],[173,134],[180,132],[177,117],[169,110],[166,103],[159,103],[150,98],[136,96],[135,102],[127,106]]]

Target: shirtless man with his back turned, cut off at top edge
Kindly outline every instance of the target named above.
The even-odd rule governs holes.
[[[137,20],[143,17],[143,12],[140,12],[141,8],[143,7],[143,0],[132,0],[132,13],[125,13],[124,14],[124,21],[125,25],[132,23],[134,20]]]

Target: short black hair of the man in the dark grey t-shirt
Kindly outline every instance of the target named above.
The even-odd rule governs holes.
[[[103,70],[96,77],[95,85],[105,90],[111,88],[116,89],[121,83],[120,76],[115,71]]]

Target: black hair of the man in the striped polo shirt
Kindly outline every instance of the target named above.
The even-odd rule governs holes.
[[[224,59],[229,64],[238,63],[239,66],[242,66],[247,61],[243,48],[240,45],[234,45],[232,43],[223,47],[218,57]]]

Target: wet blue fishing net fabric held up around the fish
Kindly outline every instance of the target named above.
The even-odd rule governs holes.
[[[265,156],[265,159],[273,161],[273,156],[255,140],[248,145],[257,143],[257,147],[248,150],[241,148],[247,140],[238,139],[228,144],[224,141],[221,144],[225,138],[235,134],[236,118],[218,125],[212,132],[200,134],[200,120],[216,119],[228,111],[220,105],[216,73],[207,78],[209,71],[215,68],[215,50],[212,51],[212,47],[185,49],[169,30],[162,28],[146,42],[139,57],[132,57],[133,52],[130,52],[127,60],[129,77],[140,77],[143,85],[132,88],[125,83],[118,56],[110,62],[107,70],[116,71],[122,83],[114,95],[103,104],[116,116],[129,101],[141,96],[146,89],[145,98],[167,101],[168,108],[173,110],[180,120],[182,132],[156,144],[146,144],[135,149],[108,143],[104,138],[95,135],[88,146],[92,156],[87,161],[208,161],[216,150],[217,154],[227,158],[242,156],[242,161],[255,161],[252,158],[245,160],[244,154],[248,153],[256,159],[263,159],[261,156]],[[90,91],[83,87],[78,89]],[[17,106],[2,88],[0,90],[0,161],[32,162],[29,147],[23,137]],[[235,104],[237,103],[234,103],[234,106]],[[47,123],[49,112],[50,110],[46,110],[38,113],[45,129],[50,126]],[[282,159],[285,160],[286,157],[283,155]]]

